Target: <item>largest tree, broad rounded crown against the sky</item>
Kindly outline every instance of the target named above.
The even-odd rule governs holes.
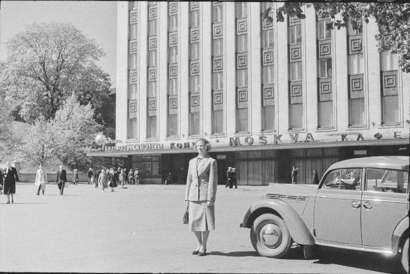
[[[98,109],[108,99],[110,78],[95,64],[105,53],[71,23],[34,23],[6,45],[0,89],[26,122],[53,119],[72,93]]]

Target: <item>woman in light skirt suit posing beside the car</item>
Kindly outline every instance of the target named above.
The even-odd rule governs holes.
[[[198,156],[189,162],[185,200],[189,205],[188,230],[195,233],[198,241],[192,254],[204,256],[209,232],[215,229],[214,202],[218,170],[215,159],[208,155],[211,150],[208,140],[198,139],[194,150],[198,152]]]

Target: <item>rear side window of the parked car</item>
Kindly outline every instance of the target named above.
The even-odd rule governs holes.
[[[391,169],[367,169],[366,190],[406,193],[408,171]]]

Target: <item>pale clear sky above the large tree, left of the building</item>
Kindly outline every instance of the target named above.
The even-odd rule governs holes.
[[[116,1],[0,1],[0,60],[6,60],[5,42],[32,22],[71,22],[106,52],[97,64],[116,87]]]

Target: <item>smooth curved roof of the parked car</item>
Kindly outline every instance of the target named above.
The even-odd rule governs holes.
[[[410,157],[408,156],[362,157],[337,162],[327,170],[338,168],[384,168],[408,170],[409,160]]]

